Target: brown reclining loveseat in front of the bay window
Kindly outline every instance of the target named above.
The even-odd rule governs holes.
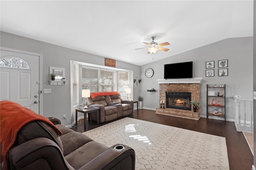
[[[112,121],[133,113],[133,101],[122,100],[119,93],[116,95],[111,94],[113,92],[104,92],[104,95],[98,95],[92,98],[91,93],[91,97],[87,98],[86,104],[88,107],[100,109],[99,123]],[[97,121],[97,115],[92,114],[91,119]]]

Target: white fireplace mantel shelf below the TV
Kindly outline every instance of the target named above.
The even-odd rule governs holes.
[[[156,81],[158,81],[158,84],[165,84],[165,83],[170,83],[170,84],[174,84],[174,83],[201,83],[201,81],[203,80],[203,77],[194,77],[191,79],[157,79]]]

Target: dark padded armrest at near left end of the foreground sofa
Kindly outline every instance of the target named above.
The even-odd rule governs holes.
[[[34,138],[20,144],[9,151],[8,157],[10,169],[74,169],[59,146],[48,138]]]

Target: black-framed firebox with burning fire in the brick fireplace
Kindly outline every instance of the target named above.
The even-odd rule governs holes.
[[[166,108],[182,109],[191,111],[191,93],[186,92],[165,92]]]

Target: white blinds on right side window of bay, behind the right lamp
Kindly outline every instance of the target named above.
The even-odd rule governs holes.
[[[118,92],[122,99],[127,99],[125,89],[129,88],[129,71],[118,71]]]

